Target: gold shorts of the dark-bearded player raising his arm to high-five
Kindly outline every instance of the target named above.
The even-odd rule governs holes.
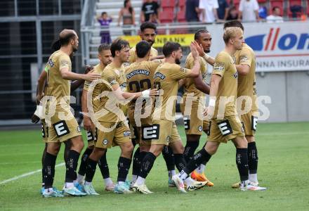
[[[152,145],[169,145],[169,143],[181,141],[175,122],[169,120],[153,120],[152,123]]]

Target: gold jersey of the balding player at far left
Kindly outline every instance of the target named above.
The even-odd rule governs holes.
[[[72,63],[70,56],[63,51],[55,51],[48,59],[46,65],[47,75],[47,89],[46,96],[53,96],[57,101],[57,105],[70,104],[70,81],[63,79],[60,70],[62,68],[68,68],[72,71]],[[66,98],[63,98],[67,96]],[[65,99],[65,101],[63,100]]]

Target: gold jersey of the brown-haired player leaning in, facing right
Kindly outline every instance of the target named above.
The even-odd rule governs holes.
[[[93,89],[93,111],[96,114],[96,118],[100,122],[119,122],[121,121],[121,112],[119,108],[119,100],[112,94],[112,86],[114,84],[123,84],[124,66],[116,68],[112,63],[107,65],[102,73],[101,79],[103,82],[96,84]],[[103,91],[105,91],[103,93]],[[96,99],[100,94],[104,94],[100,98]],[[97,101],[97,102],[96,102]]]

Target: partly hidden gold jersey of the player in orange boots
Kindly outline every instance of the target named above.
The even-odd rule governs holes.
[[[202,74],[204,82],[206,81],[206,75],[207,75],[207,64],[205,60],[202,57],[199,57],[199,63],[201,65],[200,72]],[[192,69],[195,65],[195,60],[192,56],[192,53],[189,53],[187,60],[185,60],[185,68]],[[194,79],[188,78],[185,79],[185,84],[183,85],[184,93],[183,97],[185,98],[187,94],[193,93],[196,98],[195,101],[199,101],[200,96],[205,96],[205,94],[202,91],[199,91],[197,87],[195,87]]]

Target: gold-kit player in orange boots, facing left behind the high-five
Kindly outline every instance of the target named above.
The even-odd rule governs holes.
[[[200,46],[202,53],[209,53],[211,47],[211,34],[207,30],[198,30],[195,32],[195,41]],[[199,49],[199,48],[197,48]],[[202,81],[206,83],[207,63],[206,60],[200,56],[199,58]],[[192,68],[194,60],[190,53],[185,61],[185,68]],[[189,162],[199,146],[199,138],[204,131],[208,134],[209,121],[203,120],[205,94],[200,91],[201,86],[197,83],[197,79],[185,79],[183,84],[183,103],[180,104],[181,113],[183,113],[183,122],[185,125],[185,134],[187,143],[185,145],[185,161]],[[208,87],[209,88],[209,87]],[[209,89],[204,90],[209,94]],[[204,174],[205,164],[202,163],[197,170],[192,172],[192,179],[197,181],[208,181],[207,186],[213,186],[213,183],[206,178]]]

